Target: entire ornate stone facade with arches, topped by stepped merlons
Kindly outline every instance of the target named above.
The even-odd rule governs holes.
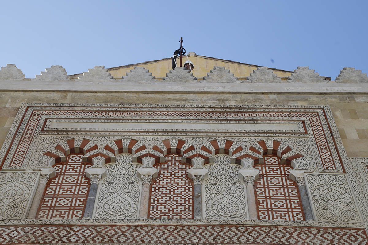
[[[368,244],[361,78],[109,73],[0,81],[2,244]]]

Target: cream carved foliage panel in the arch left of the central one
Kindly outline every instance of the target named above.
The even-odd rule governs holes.
[[[136,218],[141,183],[136,177],[140,164],[130,154],[121,154],[116,163],[105,165],[109,177],[101,181],[95,218]]]

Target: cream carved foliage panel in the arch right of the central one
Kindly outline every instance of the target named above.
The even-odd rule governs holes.
[[[240,165],[230,164],[227,155],[216,155],[214,164],[206,164],[209,178],[205,188],[206,218],[245,218],[244,183],[238,179]]]

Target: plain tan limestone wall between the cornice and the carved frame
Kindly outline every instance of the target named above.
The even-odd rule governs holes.
[[[348,157],[368,157],[368,95],[0,92],[0,146],[22,103],[328,105]]]

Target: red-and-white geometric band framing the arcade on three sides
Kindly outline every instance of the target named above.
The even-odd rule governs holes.
[[[42,110],[42,111],[32,111],[27,124],[25,126],[24,132],[20,138],[20,142],[15,149],[15,153],[12,159],[8,161],[8,167],[22,167],[25,155],[28,152],[30,142],[35,135],[36,129],[40,123],[42,123],[41,118],[43,117],[64,117],[64,118],[82,118],[82,117],[101,117],[104,118],[174,118],[179,117],[180,119],[191,119],[195,118],[232,118],[238,117],[239,119],[272,119],[272,118],[302,118],[309,119],[312,126],[312,133],[315,138],[315,143],[319,151],[319,156],[321,157],[322,167],[325,170],[336,169],[336,164],[333,159],[332,151],[328,143],[328,138],[326,136],[325,130],[323,129],[322,119],[318,112],[138,112],[138,111],[52,111],[52,110]]]

